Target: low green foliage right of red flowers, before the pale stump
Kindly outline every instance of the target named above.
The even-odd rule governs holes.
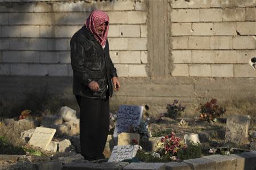
[[[186,148],[181,148],[177,152],[177,158],[181,160],[200,158],[202,154],[200,143],[188,143]]]

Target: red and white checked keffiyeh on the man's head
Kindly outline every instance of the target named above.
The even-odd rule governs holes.
[[[106,28],[102,36],[98,35],[96,32],[96,27],[99,25],[106,23]],[[109,16],[106,12],[100,10],[94,10],[90,16],[85,21],[85,26],[89,29],[90,32],[93,33],[94,37],[98,42],[100,42],[101,46],[105,46],[106,39],[108,37],[109,32]]]

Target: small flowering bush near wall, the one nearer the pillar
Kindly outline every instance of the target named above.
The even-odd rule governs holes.
[[[179,100],[174,100],[172,104],[167,104],[167,112],[163,113],[161,116],[170,117],[174,120],[180,116],[181,112],[184,112],[185,107],[179,104]]]

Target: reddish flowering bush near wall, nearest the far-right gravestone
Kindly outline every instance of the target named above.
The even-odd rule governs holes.
[[[204,105],[200,104],[197,111],[200,112],[200,120],[216,122],[217,118],[226,112],[226,109],[217,105],[217,99],[212,99]]]

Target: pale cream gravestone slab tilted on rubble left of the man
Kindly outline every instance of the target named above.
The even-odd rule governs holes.
[[[56,129],[38,127],[35,129],[28,143],[32,146],[40,147],[46,150],[47,146],[52,141],[55,132]]]

